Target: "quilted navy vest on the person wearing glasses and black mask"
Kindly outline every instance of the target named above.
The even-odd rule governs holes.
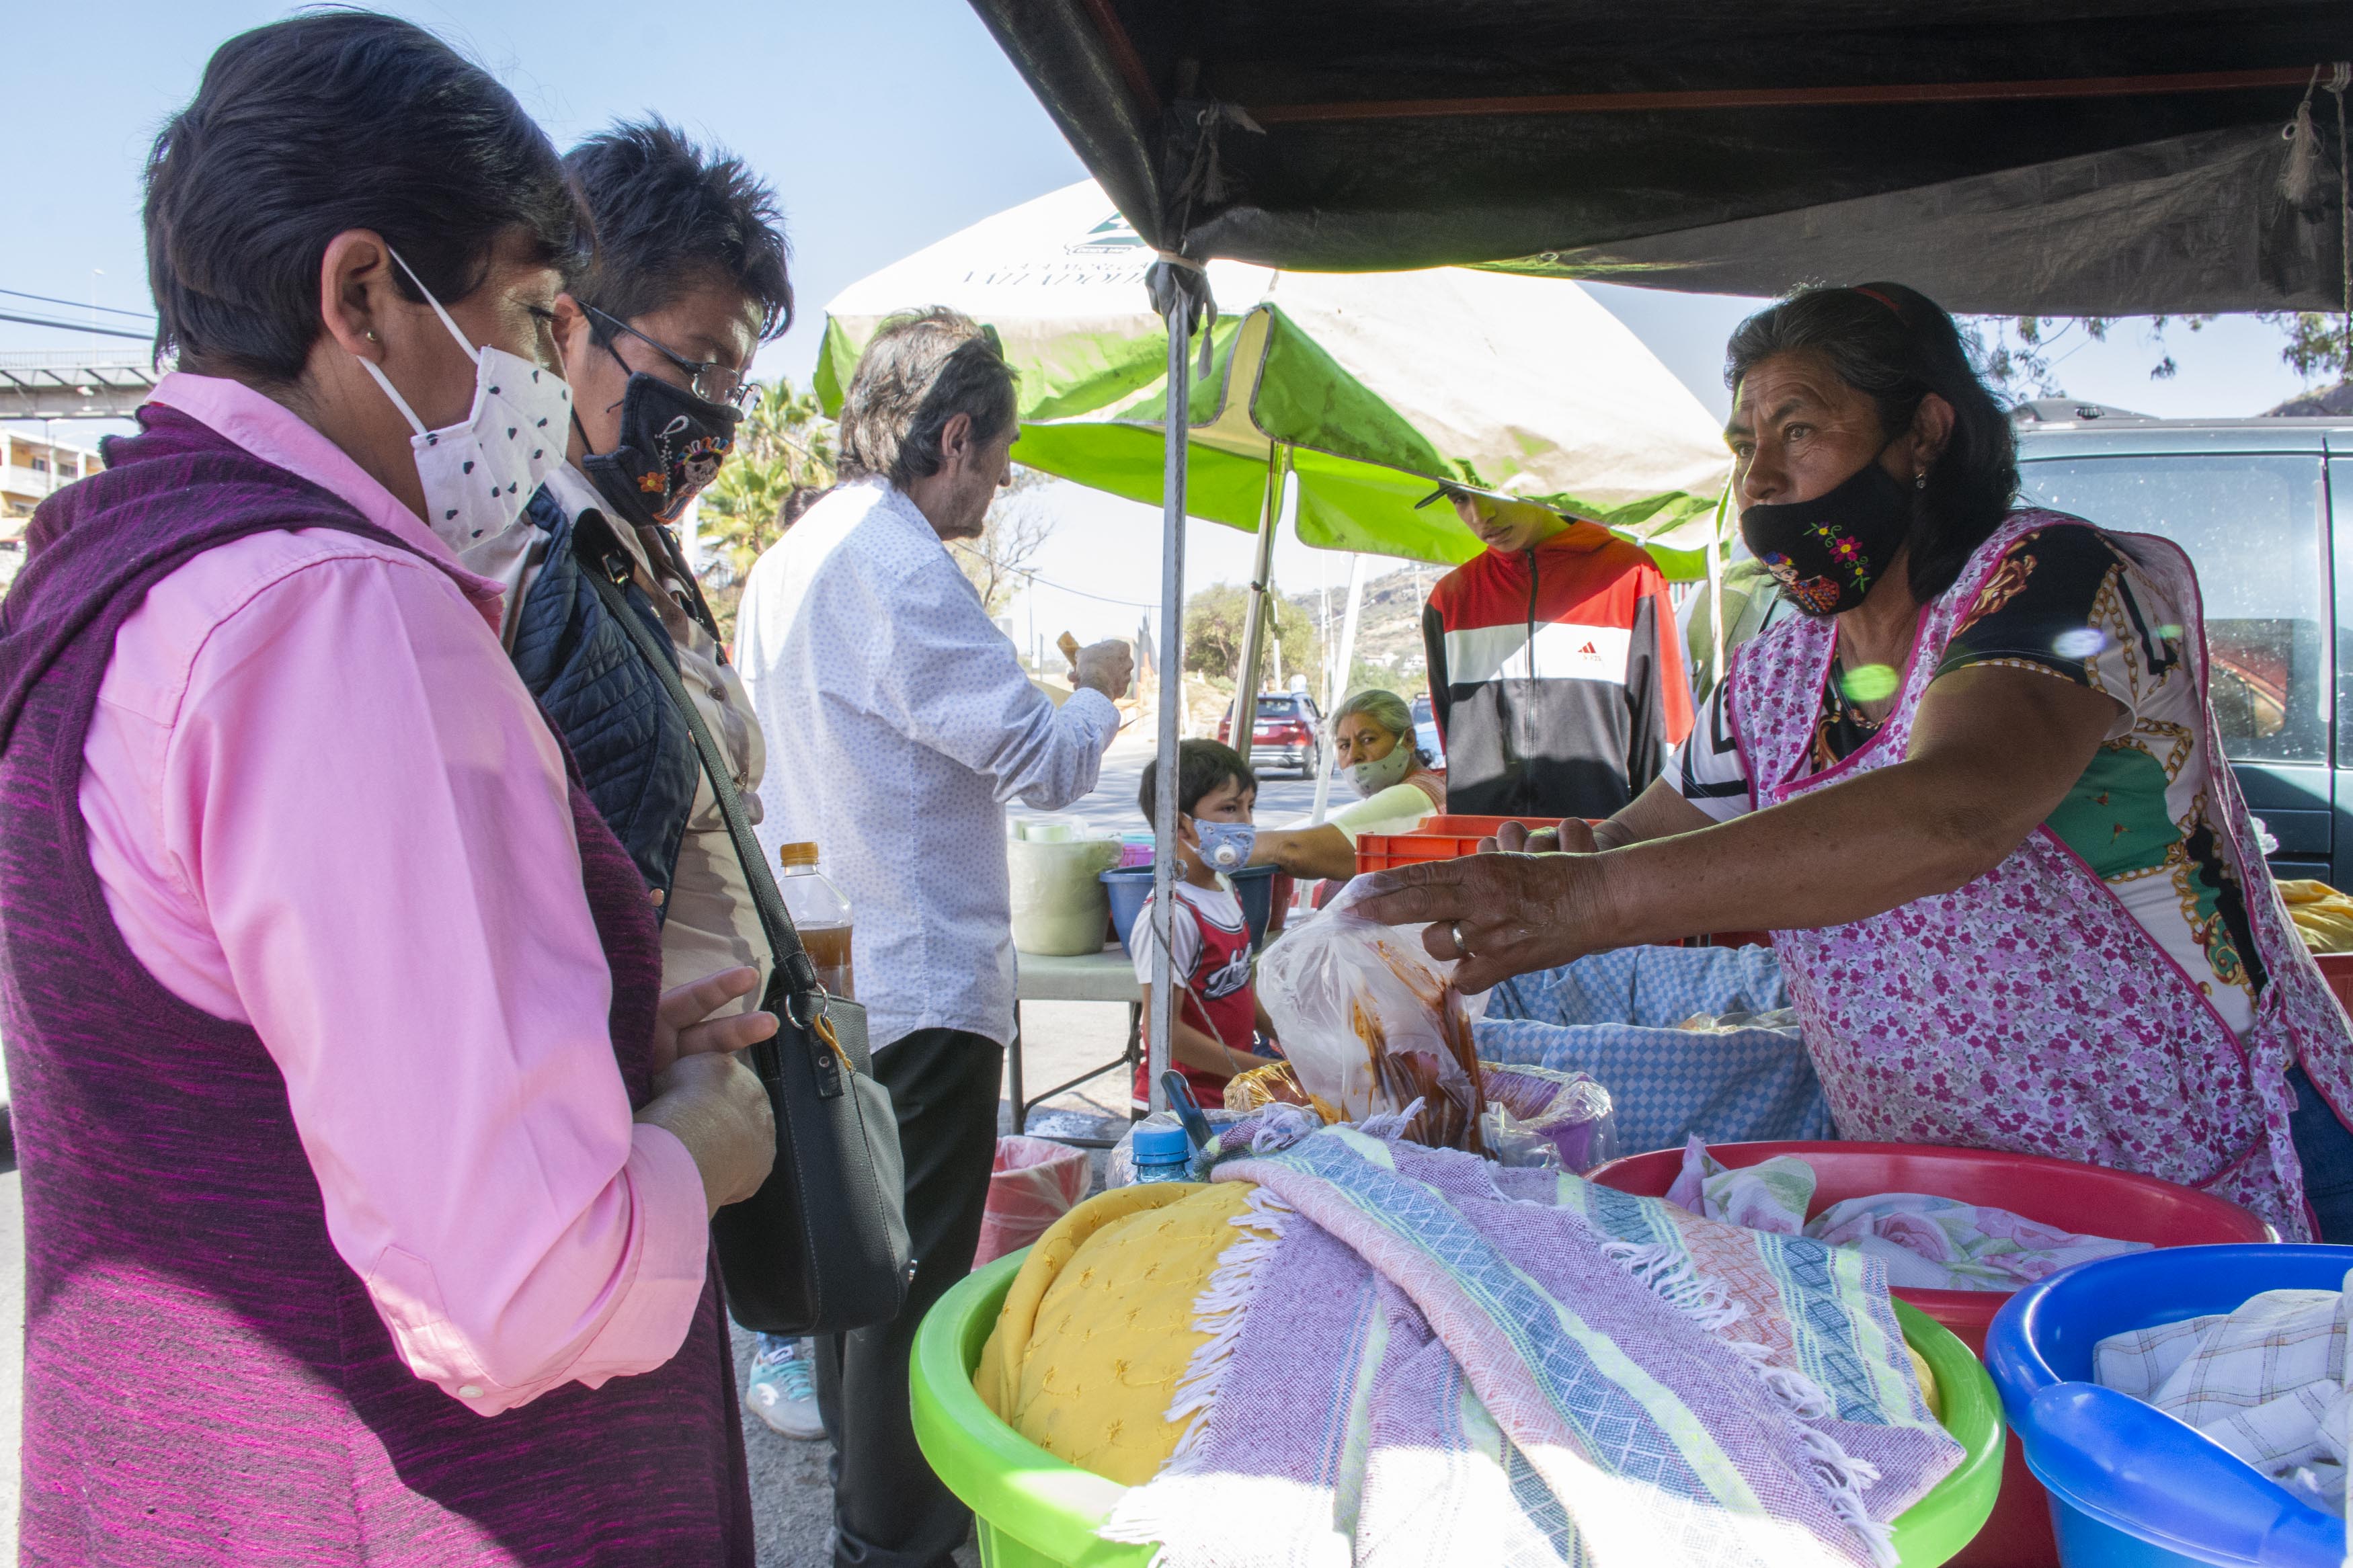
[[[638,863],[645,886],[661,891],[654,907],[666,910],[701,780],[694,736],[572,555],[572,517],[546,489],[532,496],[525,515],[548,534],[548,562],[515,621],[515,672],[572,748],[588,799]],[[671,635],[652,599],[635,583],[624,592],[668,649]],[[675,654],[671,661],[675,665]]]

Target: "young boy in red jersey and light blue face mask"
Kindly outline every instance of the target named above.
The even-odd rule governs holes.
[[[1144,769],[1136,804],[1144,820],[1155,820],[1160,762]],[[1266,1065],[1257,1037],[1273,1041],[1275,1030],[1259,1004],[1249,973],[1249,919],[1242,898],[1209,860],[1242,865],[1249,860],[1249,809],[1259,797],[1259,778],[1240,752],[1217,741],[1186,741],[1176,748],[1176,912],[1169,922],[1169,978],[1176,980],[1176,1027],[1169,1037],[1169,1065],[1184,1074],[1202,1105],[1226,1103],[1226,1079]],[[1127,952],[1144,985],[1144,1018],[1153,1016],[1153,954],[1160,950],[1153,926],[1153,900],[1127,933]],[[1148,1058],[1146,1058],[1148,1060]],[[1148,1067],[1136,1065],[1136,1105],[1151,1103]]]

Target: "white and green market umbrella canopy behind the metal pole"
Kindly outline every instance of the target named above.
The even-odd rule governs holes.
[[[953,306],[1021,371],[1024,465],[1160,501],[1167,331],[1151,249],[1094,181],[1012,207],[826,306],[838,409],[882,317]],[[1186,510],[1254,531],[1292,451],[1299,538],[1454,564],[1480,543],[1438,477],[1553,501],[1697,576],[1729,470],[1715,421],[1584,289],[1468,268],[1315,275],[1209,263],[1219,322],[1186,421]]]

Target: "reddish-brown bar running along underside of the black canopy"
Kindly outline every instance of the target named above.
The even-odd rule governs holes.
[[[2325,66],[2322,66],[2325,71]],[[1826,108],[1857,103],[1988,103],[2024,99],[2127,99],[2169,92],[2304,87],[2313,66],[2278,71],[2184,71],[2172,75],[2078,75],[2026,82],[1889,82],[1878,87],[1729,87],[1699,92],[1572,92],[1518,99],[1367,99],[1362,103],[1252,103],[1259,125],[1332,120],[1431,120],[1489,115],[1617,115],[1661,108]]]

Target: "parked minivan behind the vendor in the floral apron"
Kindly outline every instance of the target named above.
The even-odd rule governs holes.
[[[2144,418],[2042,400],[2017,421],[2026,503],[2188,552],[2214,715],[2278,839],[2273,872],[2353,886],[2353,418]]]

